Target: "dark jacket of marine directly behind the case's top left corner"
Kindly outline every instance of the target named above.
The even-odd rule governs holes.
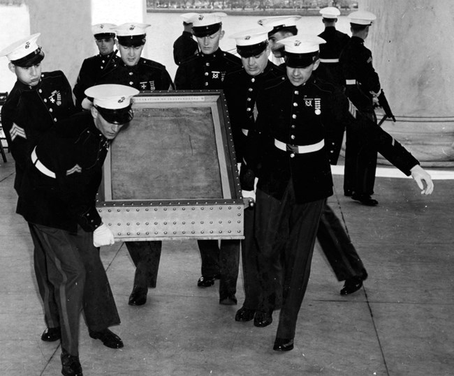
[[[140,91],[168,90],[172,79],[161,63],[141,57],[135,66],[119,61],[117,67],[104,75],[99,84],[120,84]]]

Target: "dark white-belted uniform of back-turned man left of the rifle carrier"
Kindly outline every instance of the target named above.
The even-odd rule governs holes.
[[[316,74],[325,81],[344,87],[345,79],[339,64],[339,56],[345,45],[349,43],[350,37],[337,31],[334,26],[325,27],[318,36],[326,40],[326,43],[320,45],[320,66]]]

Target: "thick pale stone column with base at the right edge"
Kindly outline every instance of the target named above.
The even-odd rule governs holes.
[[[365,45],[397,119],[383,128],[423,165],[454,165],[454,1],[360,0],[359,8],[377,17]]]

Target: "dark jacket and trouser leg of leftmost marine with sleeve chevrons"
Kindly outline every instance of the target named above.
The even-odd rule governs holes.
[[[41,80],[29,87],[19,80],[1,108],[1,122],[15,160],[14,188],[20,194],[24,170],[31,151],[43,134],[75,111],[71,86],[63,72],[41,74]],[[45,323],[48,328],[59,326],[59,312],[54,299],[54,286],[47,276],[46,256],[41,241],[29,225],[34,242],[34,269],[43,299]]]

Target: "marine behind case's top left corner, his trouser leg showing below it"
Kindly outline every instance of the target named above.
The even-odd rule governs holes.
[[[128,23],[115,28],[121,61],[101,80],[106,84],[123,84],[140,91],[169,90],[173,83],[166,67],[140,57],[146,42],[149,24]],[[129,255],[136,266],[130,306],[147,302],[148,287],[156,287],[161,258],[161,241],[126,241]]]

